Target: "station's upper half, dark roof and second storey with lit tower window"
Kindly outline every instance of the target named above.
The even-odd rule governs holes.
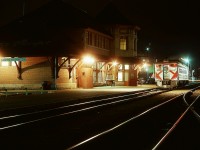
[[[113,10],[111,6],[100,13],[105,15],[104,10]],[[126,22],[97,22],[63,1],[52,1],[2,28],[0,49],[5,57],[80,56],[82,53],[105,58],[137,57],[138,31],[137,26]]]

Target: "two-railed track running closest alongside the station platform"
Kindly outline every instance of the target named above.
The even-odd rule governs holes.
[[[166,92],[168,90],[160,90],[157,88],[154,89],[148,89],[148,90],[142,90],[137,92],[128,92],[126,94],[120,94],[118,96],[110,96],[105,98],[94,98],[93,100],[82,102],[82,103],[75,103],[65,106],[59,106],[59,107],[51,107],[51,108],[43,108],[41,110],[35,110],[33,112],[20,112],[20,109],[13,109],[9,110],[9,115],[6,115],[8,112],[1,111],[0,116],[0,131],[22,126],[38,121],[43,121],[46,119],[51,119],[59,116],[66,116],[70,114],[80,113],[84,111],[88,111],[91,109],[96,109],[100,107],[106,107],[108,105],[116,105],[128,101],[137,100],[144,97],[153,96],[156,94],[160,94],[163,92]],[[23,108],[24,109],[24,108]],[[33,108],[26,108],[27,109],[33,109]],[[13,113],[12,113],[13,112]]]

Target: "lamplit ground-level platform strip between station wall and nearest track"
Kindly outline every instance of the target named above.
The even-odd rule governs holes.
[[[0,111],[50,103],[67,102],[102,95],[119,94],[131,91],[155,88],[156,85],[138,86],[102,86],[92,89],[64,90],[7,90],[0,91]]]

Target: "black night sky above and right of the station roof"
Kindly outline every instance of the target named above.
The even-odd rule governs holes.
[[[24,0],[0,1],[0,26],[23,15]],[[49,0],[25,0],[25,14]],[[97,14],[109,1],[141,28],[138,50],[151,43],[155,58],[189,57],[192,66],[200,67],[200,5],[193,0],[66,0]]]

